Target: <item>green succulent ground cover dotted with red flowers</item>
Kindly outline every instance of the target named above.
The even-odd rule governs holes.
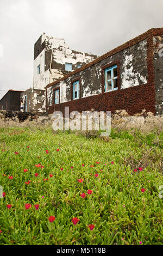
[[[1,245],[162,245],[162,173],[154,163],[140,171],[123,161],[130,154],[139,159],[154,135],[144,136],[147,144],[140,146],[128,132],[112,132],[105,142],[51,129],[21,130],[0,130]],[[161,155],[160,146],[153,148]],[[55,216],[52,223],[49,216]]]

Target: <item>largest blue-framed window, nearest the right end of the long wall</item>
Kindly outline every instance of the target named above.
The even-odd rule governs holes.
[[[117,65],[105,69],[105,92],[118,89]]]

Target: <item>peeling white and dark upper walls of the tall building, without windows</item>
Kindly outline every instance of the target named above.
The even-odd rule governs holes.
[[[85,65],[96,59],[93,54],[81,53],[70,50],[64,39],[57,39],[43,33],[34,46],[34,89],[45,89],[52,83],[70,71],[65,70],[65,63],[72,64],[72,70],[78,65]],[[40,65],[40,74],[37,66]]]

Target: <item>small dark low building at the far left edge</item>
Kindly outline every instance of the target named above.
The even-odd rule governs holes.
[[[22,92],[23,90],[8,90],[0,100],[0,109],[6,111],[20,111]]]

